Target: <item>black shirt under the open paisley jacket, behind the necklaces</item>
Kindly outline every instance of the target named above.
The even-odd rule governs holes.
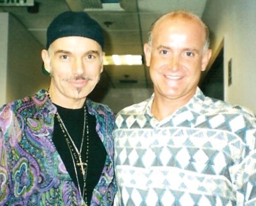
[[[68,133],[70,134],[74,144],[76,144],[78,150],[81,146],[82,136],[83,136],[83,128],[84,128],[84,108],[81,109],[66,109],[60,106],[57,106],[57,112],[59,116],[61,116]],[[88,122],[88,130],[89,130],[89,155],[88,155],[88,166],[87,166],[87,176],[86,176],[86,196],[87,203],[91,202],[92,193],[94,187],[97,185],[100,175],[102,173],[102,169],[104,167],[104,163],[106,161],[107,152],[104,148],[103,143],[101,142],[98,133],[96,132],[96,117],[89,114],[87,107],[87,122]],[[67,134],[66,134],[67,135]],[[82,161],[86,160],[86,127],[84,133],[84,143],[82,147]],[[77,175],[74,169],[73,160],[71,157],[70,150],[68,148],[64,132],[62,131],[57,115],[54,117],[54,131],[53,131],[53,143],[61,156],[64,165],[73,180],[74,184],[77,187],[81,188],[81,193],[83,193],[83,176],[80,170],[80,167],[77,166],[77,174],[79,185],[77,182]],[[84,200],[85,197],[84,197]]]

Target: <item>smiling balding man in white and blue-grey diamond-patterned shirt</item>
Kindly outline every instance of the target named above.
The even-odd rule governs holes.
[[[198,88],[208,47],[207,26],[187,11],[150,28],[154,94],[116,116],[114,205],[256,205],[255,118]]]

